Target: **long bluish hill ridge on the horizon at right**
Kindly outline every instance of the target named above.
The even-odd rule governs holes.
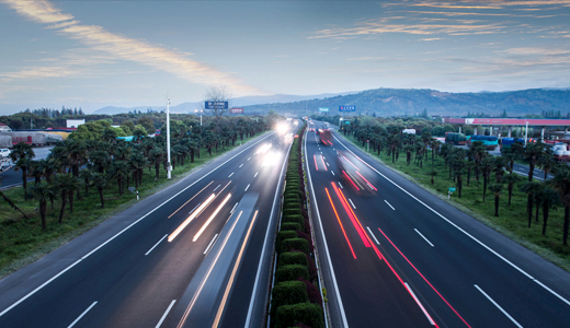
[[[529,89],[508,92],[449,93],[428,89],[376,89],[321,99],[296,101],[246,106],[246,113],[275,110],[290,115],[310,115],[319,107],[329,107],[330,115],[339,114],[339,106],[356,106],[356,115],[377,116],[467,115],[485,113],[510,116],[542,114],[544,110],[570,110],[570,90]]]

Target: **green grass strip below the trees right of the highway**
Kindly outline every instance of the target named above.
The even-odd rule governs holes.
[[[356,139],[351,137],[349,140],[365,150]],[[449,169],[444,168],[443,160],[437,156],[433,164],[433,169],[437,172],[437,175],[435,176],[434,184],[431,184],[431,151],[428,156],[429,160],[423,162],[423,168],[414,164],[414,154],[412,155],[410,165],[406,164],[406,153],[400,153],[400,159],[396,163],[392,163],[391,156],[386,155],[386,151],[384,150],[378,156],[377,152],[373,152],[371,148],[369,154],[379,160],[384,165],[391,167],[408,179],[413,180],[424,189],[446,201],[448,188],[456,187],[456,183],[454,183],[453,178],[449,178]],[[471,173],[474,174],[474,172]],[[478,183],[475,176],[471,175],[469,186],[467,186],[467,175],[465,175],[461,198],[458,198],[458,192],[456,191],[452,195],[451,203],[565,270],[570,271],[570,247],[562,244],[563,208],[558,207],[556,210],[550,210],[546,236],[543,236],[543,211],[540,209],[538,222],[536,222],[534,216],[535,209],[533,209],[533,222],[528,229],[526,195],[518,191],[517,185],[513,188],[511,206],[508,203],[509,196],[506,185],[504,185],[500,197],[499,216],[494,216],[494,195],[490,190],[487,190],[487,196],[483,201],[482,176],[479,179],[480,181]],[[526,179],[523,179],[522,183],[524,181],[526,181]],[[493,183],[495,183],[494,174],[491,176],[491,184]]]

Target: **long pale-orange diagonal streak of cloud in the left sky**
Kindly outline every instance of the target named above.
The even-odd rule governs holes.
[[[83,25],[71,14],[62,13],[49,1],[0,0],[22,16],[76,39],[93,50],[103,51],[114,59],[129,60],[169,72],[190,82],[206,85],[226,85],[236,95],[260,94],[255,87],[242,83],[231,74],[216,70],[205,63],[189,59],[185,54],[155,46],[142,39],[111,33],[98,25]],[[29,71],[27,77],[49,77],[49,69]],[[71,73],[71,72],[69,72]],[[10,73],[9,73],[10,74]]]

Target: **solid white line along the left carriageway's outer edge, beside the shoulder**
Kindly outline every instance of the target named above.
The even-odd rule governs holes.
[[[242,151],[240,151],[239,153],[235,154],[233,156],[229,157],[226,162],[219,164],[218,166],[216,166],[214,169],[212,169],[210,172],[206,173],[205,175],[203,175],[201,178],[198,178],[197,180],[195,180],[194,183],[192,183],[191,185],[189,185],[186,188],[180,190],[179,192],[176,192],[175,195],[173,195],[172,197],[170,197],[169,199],[164,200],[161,204],[159,204],[158,207],[156,207],[155,209],[152,209],[150,212],[146,213],[145,215],[140,216],[140,219],[138,219],[137,221],[130,223],[128,226],[126,226],[125,229],[123,229],[122,231],[119,231],[118,233],[116,233],[114,236],[112,236],[111,238],[106,239],[103,244],[99,245],[98,247],[95,247],[93,250],[91,250],[90,253],[88,253],[86,256],[81,257],[80,259],[78,259],[77,261],[72,262],[71,265],[69,265],[69,267],[65,268],[64,270],[59,271],[59,273],[57,273],[56,276],[52,277],[48,281],[44,282],[43,284],[41,284],[39,286],[37,286],[35,290],[31,291],[30,293],[27,293],[25,296],[23,296],[22,298],[18,300],[16,302],[14,302],[12,305],[10,305],[9,307],[7,307],[4,311],[2,311],[0,313],[0,317],[3,316],[4,314],[7,314],[9,311],[11,311],[12,308],[14,308],[15,306],[18,306],[20,303],[24,302],[25,300],[27,300],[27,297],[32,296],[33,294],[37,293],[37,291],[39,291],[41,289],[43,289],[44,286],[46,286],[48,283],[50,283],[52,281],[56,280],[59,276],[64,274],[65,272],[67,272],[69,269],[73,268],[75,266],[77,266],[80,261],[84,260],[86,258],[88,258],[89,256],[91,256],[93,253],[98,251],[101,247],[105,246],[106,244],[109,244],[111,241],[113,241],[114,238],[116,238],[117,236],[119,236],[121,234],[123,234],[125,231],[129,230],[133,225],[137,224],[138,222],[140,222],[142,219],[147,218],[148,215],[150,215],[151,213],[153,213],[156,210],[158,210],[159,208],[161,208],[162,206],[164,206],[166,203],[168,203],[169,201],[171,201],[172,199],[176,198],[179,195],[181,195],[182,192],[186,191],[189,188],[193,187],[195,184],[197,184],[198,181],[201,181],[203,178],[207,177],[209,174],[212,174],[213,172],[215,172],[216,169],[220,168],[221,166],[226,165],[229,161],[233,160],[235,157],[237,157],[238,155],[240,155],[241,153],[243,153],[244,151],[247,151],[248,149],[254,147],[255,144],[260,143],[262,140],[265,140],[266,138],[269,138],[271,134],[273,134],[274,132],[272,133],[269,133],[266,137],[260,139],[258,142],[255,143],[252,143],[251,145],[249,145],[248,148],[243,149]]]

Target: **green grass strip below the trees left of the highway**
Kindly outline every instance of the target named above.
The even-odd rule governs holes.
[[[241,144],[250,139],[244,139]],[[239,141],[236,142],[236,147],[239,147]],[[150,171],[145,169],[142,184],[138,188],[140,199],[174,184],[191,172],[233,148],[229,147],[225,150],[220,148],[218,152],[213,150],[212,156],[208,155],[206,150],[201,150],[201,159],[196,156],[194,163],[190,163],[190,160],[187,160],[184,161],[185,165],[175,166],[175,169],[172,171],[171,180],[167,180],[167,172],[162,169],[162,166],[158,180],[155,180],[156,173],[153,166]],[[33,185],[33,183],[29,184],[27,187],[31,188]],[[47,253],[53,251],[137,202],[136,196],[128,191],[127,188],[125,188],[123,196],[119,196],[117,184],[114,180],[103,194],[105,208],[101,208],[101,200],[96,189],[90,188],[89,196],[86,196],[84,188],[82,188],[80,194],[83,199],[78,200],[77,194],[75,195],[73,212],[69,212],[68,202],[61,224],[57,222],[61,208],[60,200],[58,199],[54,202],[54,209],[52,209],[48,201],[47,229],[43,231],[39,212],[36,210],[38,201],[25,200],[22,187],[14,187],[3,192],[30,216],[30,220],[26,220],[20,212],[10,208],[0,198],[0,277],[4,277],[39,259]]]

